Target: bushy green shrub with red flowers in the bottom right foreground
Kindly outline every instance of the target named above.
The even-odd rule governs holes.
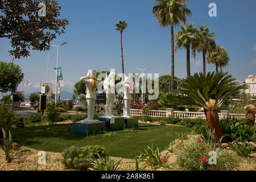
[[[189,135],[185,141],[177,141],[176,165],[185,171],[231,171],[238,167],[238,160],[233,152],[222,148],[213,149],[209,142],[196,138],[198,135]],[[210,164],[210,151],[216,152],[216,164]]]

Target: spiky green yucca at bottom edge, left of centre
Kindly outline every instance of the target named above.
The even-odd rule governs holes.
[[[97,162],[92,163],[93,168],[89,169],[92,171],[118,171],[121,168],[119,167],[121,161],[122,159],[115,162],[115,160],[112,160],[109,157],[102,158],[100,155],[98,155]]]

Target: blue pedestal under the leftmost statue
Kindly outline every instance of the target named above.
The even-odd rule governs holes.
[[[88,137],[90,134],[105,130],[105,122],[73,123],[73,134]]]

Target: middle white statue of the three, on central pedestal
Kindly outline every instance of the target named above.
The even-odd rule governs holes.
[[[115,73],[110,72],[103,82],[104,92],[106,93],[105,118],[112,118],[112,106],[115,99]]]

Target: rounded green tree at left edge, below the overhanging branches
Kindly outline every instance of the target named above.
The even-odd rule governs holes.
[[[15,88],[24,75],[19,65],[0,62],[0,92],[6,93]]]

